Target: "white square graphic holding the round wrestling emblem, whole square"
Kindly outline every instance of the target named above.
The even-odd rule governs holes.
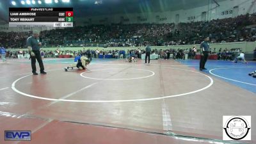
[[[223,140],[251,140],[251,116],[223,116]]]

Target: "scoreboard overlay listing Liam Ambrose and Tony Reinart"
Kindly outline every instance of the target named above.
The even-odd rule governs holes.
[[[73,27],[73,8],[9,8],[9,27]]]

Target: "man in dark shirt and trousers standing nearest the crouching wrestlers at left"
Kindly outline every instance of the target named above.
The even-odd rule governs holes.
[[[39,42],[39,31],[34,30],[33,36],[30,36],[27,40],[27,46],[31,58],[31,67],[33,75],[38,75],[36,73],[36,60],[38,61],[40,66],[40,74],[46,74],[46,72],[44,71],[44,64],[40,54],[40,45],[42,44],[41,42]]]

